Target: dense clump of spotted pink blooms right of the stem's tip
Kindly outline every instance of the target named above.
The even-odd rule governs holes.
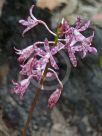
[[[83,58],[87,52],[96,53],[97,50],[94,47],[90,47],[94,37],[94,32],[91,36],[85,37],[80,32],[85,31],[90,26],[90,21],[82,24],[80,18],[77,18],[76,27],[70,27],[68,22],[63,21],[63,28],[65,33],[66,46],[69,59],[74,67],[77,66],[76,52],[82,52]]]

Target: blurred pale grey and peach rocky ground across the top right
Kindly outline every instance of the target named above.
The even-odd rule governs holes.
[[[101,0],[37,0],[37,6],[48,8],[52,13],[52,27],[64,17],[71,24],[76,20],[77,15],[83,19],[91,19],[96,25],[102,28],[102,1]]]

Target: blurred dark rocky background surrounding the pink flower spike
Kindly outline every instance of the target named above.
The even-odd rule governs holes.
[[[62,17],[71,25],[79,15],[90,19],[98,53],[88,54],[84,60],[79,57],[76,69],[71,66],[63,94],[52,110],[47,107],[51,92],[42,92],[27,136],[102,136],[102,0],[0,0],[0,136],[21,135],[36,91],[31,84],[23,101],[10,93],[12,79],[21,79],[13,48],[52,39],[43,26],[22,38],[24,28],[18,21],[28,17],[32,4],[36,5],[35,16],[52,30]]]

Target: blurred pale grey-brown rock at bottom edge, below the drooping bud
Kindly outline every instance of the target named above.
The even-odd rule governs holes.
[[[57,108],[54,108],[51,116],[53,122],[51,136],[79,136],[77,127],[68,126],[63,114]]]

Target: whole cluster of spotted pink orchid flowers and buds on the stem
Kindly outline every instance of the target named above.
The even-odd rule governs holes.
[[[56,37],[56,33],[52,32],[45,22],[43,22],[42,20],[38,20],[34,17],[34,15],[32,14],[33,7],[34,6],[32,6],[30,9],[30,17],[28,17],[27,20],[19,21],[20,24],[26,27],[23,31],[23,36],[27,31],[29,31],[36,25],[42,24],[46,27],[49,33]],[[81,33],[88,29],[89,26],[90,21],[82,23],[80,17],[77,17],[75,27],[70,26],[66,20],[62,19],[60,25],[60,36],[55,46],[53,46],[55,41],[48,41],[48,39],[45,38],[44,41],[36,42],[25,49],[15,49],[16,53],[19,55],[18,61],[20,62],[21,66],[20,74],[27,76],[27,78],[19,83],[13,81],[15,87],[12,89],[12,92],[20,94],[22,98],[32,78],[41,80],[47,63],[50,63],[50,68],[48,68],[47,76],[55,76],[57,81],[59,82],[58,87],[51,94],[48,100],[48,106],[50,108],[54,107],[57,101],[59,100],[59,97],[63,90],[63,84],[58,78],[58,75],[55,71],[59,70],[59,67],[55,61],[55,55],[61,50],[67,50],[70,62],[74,67],[76,67],[77,52],[82,53],[82,58],[84,58],[88,52],[96,53],[96,48],[91,47],[94,32],[92,32],[92,35],[89,37],[85,37]],[[40,45],[42,45],[42,48],[40,48]]]

